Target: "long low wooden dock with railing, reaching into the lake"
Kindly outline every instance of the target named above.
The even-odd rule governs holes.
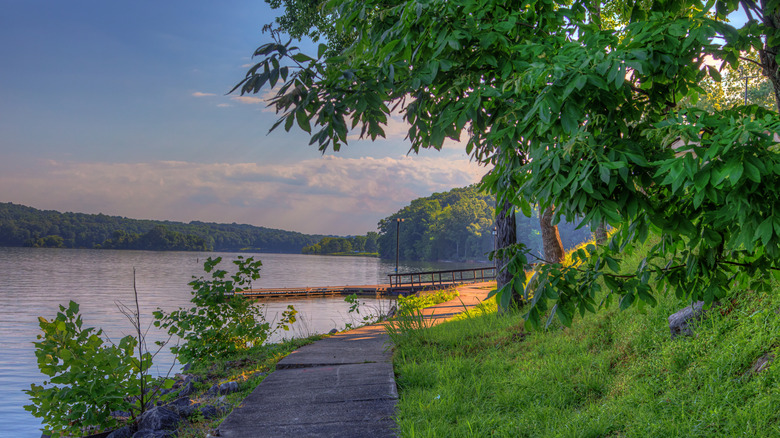
[[[495,268],[454,269],[449,271],[390,274],[388,284],[361,286],[287,287],[251,289],[239,292],[246,298],[307,298],[324,296],[398,296],[425,290],[436,290],[465,283],[479,283],[495,279]]]

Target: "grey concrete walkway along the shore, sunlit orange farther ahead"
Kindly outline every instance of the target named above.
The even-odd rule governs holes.
[[[438,324],[485,299],[495,283],[458,288],[460,297],[424,309]],[[338,333],[276,365],[219,426],[221,437],[394,437],[398,392],[383,324]]]

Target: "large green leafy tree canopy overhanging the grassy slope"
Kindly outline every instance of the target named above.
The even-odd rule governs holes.
[[[767,14],[737,30],[724,18],[739,4]],[[297,123],[321,150],[346,144],[350,128],[383,136],[391,108],[409,123],[414,151],[467,131],[467,152],[494,166],[484,183],[499,205],[526,215],[531,204],[555,205],[556,217],[618,228],[573,266],[540,270],[532,324],[547,313],[570,324],[614,298],[621,308],[652,305],[651,281],[710,303],[734,281],[763,287],[765,276],[750,274],[780,269],[777,114],[680,106],[703,92],[704,77],[721,80],[705,55],[737,66],[750,47],[778,89],[778,2],[715,5],[711,13],[698,0],[626,3],[626,22],[614,24],[590,2],[333,0],[323,7],[351,44],[308,56],[274,34],[235,89],[281,84],[275,126]],[[621,267],[619,251],[651,230],[661,243],[640,266]],[[524,281],[524,262],[515,251],[502,304]]]

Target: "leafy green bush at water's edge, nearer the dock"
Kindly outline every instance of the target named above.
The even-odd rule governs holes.
[[[241,291],[251,289],[253,280],[260,278],[260,260],[239,256],[233,261],[236,272],[232,275],[216,269],[221,261],[222,257],[209,257],[203,269],[211,278],[193,277],[190,282],[194,307],[170,313],[162,309],[154,312],[155,326],[167,329],[183,341],[171,348],[182,362],[219,358],[262,345],[276,330],[288,330],[289,324],[295,322],[297,312],[288,306],[272,327],[265,320],[263,307],[240,295]]]

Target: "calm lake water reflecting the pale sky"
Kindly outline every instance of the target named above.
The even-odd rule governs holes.
[[[60,304],[74,300],[81,305],[85,326],[103,328],[112,339],[130,334],[130,323],[115,303],[133,304],[133,268],[146,324],[158,307],[174,310],[190,299],[187,283],[203,274],[208,256],[223,257],[223,267],[239,254],[201,252],[151,252],[0,247],[0,431],[4,436],[40,437],[40,422],[22,406],[22,393],[30,383],[40,383],[32,342],[40,332],[38,316],[53,318]],[[248,256],[247,254],[243,254]],[[261,278],[254,287],[340,286],[387,283],[394,261],[368,257],[256,254],[263,261]],[[231,264],[232,266],[232,264]],[[458,269],[463,264],[405,263],[400,272]],[[388,307],[386,301],[361,299],[367,308]],[[287,337],[341,329],[355,317],[343,298],[267,301],[266,318],[292,304],[298,319]],[[356,322],[356,321],[354,321]],[[277,335],[273,340],[279,340]],[[164,335],[152,327],[147,342],[153,345]],[[163,351],[155,360],[165,374],[173,358]]]

